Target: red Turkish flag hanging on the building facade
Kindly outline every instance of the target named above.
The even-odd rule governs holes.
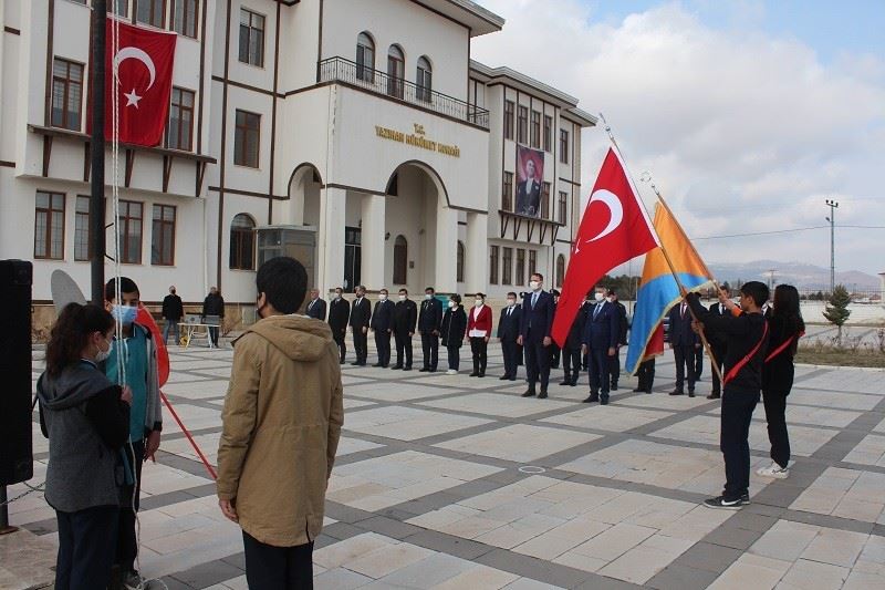
[[[117,86],[119,141],[159,145],[169,113],[173,89],[175,33],[153,31],[119,22],[114,51],[113,21],[107,19],[105,58],[104,137],[113,138],[114,85]]]

